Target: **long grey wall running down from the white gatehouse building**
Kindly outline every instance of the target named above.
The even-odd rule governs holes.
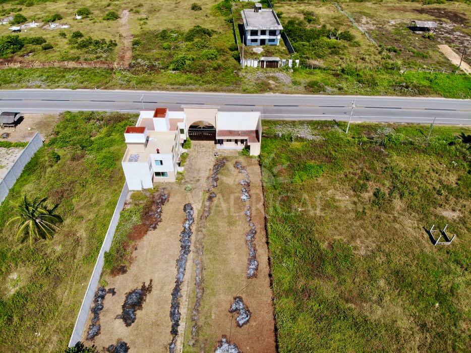
[[[128,193],[128,185],[125,182],[123,190],[121,191],[120,198],[118,199],[116,207],[114,208],[113,216],[111,217],[111,221],[109,222],[108,230],[106,231],[106,236],[103,240],[103,244],[101,245],[98,258],[96,259],[95,268],[93,269],[92,276],[90,278],[90,281],[88,282],[87,291],[85,292],[85,296],[82,301],[82,306],[80,307],[79,315],[77,316],[77,320],[75,321],[74,331],[72,331],[72,336],[69,341],[69,347],[73,347],[75,343],[80,341],[82,338],[82,333],[85,329],[87,318],[90,314],[90,308],[93,303],[93,297],[95,295],[95,291],[98,287],[98,282],[100,280],[101,270],[103,269],[104,254],[105,252],[109,251],[109,248],[111,247],[111,243],[114,237],[114,231],[116,230],[116,226],[120,221],[120,213],[123,210]]]

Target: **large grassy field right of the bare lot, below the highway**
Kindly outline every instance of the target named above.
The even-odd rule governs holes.
[[[264,123],[279,351],[469,351],[471,130],[344,129]]]

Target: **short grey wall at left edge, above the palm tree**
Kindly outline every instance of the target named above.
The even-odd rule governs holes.
[[[0,204],[5,200],[10,192],[10,189],[13,188],[18,178],[20,178],[21,172],[26,164],[31,160],[36,151],[42,146],[42,137],[37,132],[28,145],[21,152],[18,159],[12,165],[10,170],[5,175],[5,178],[0,181]]]

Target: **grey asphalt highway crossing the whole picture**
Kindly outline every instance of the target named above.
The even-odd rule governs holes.
[[[65,110],[135,112],[140,109],[217,106],[225,111],[260,111],[263,119],[348,120],[471,125],[471,100],[378,96],[232,94],[200,92],[21,89],[0,90],[0,110],[22,113]]]

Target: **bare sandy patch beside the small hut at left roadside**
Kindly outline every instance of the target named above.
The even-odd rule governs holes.
[[[3,141],[29,141],[36,131],[39,131],[42,138],[47,138],[52,133],[54,125],[57,123],[58,114],[22,114],[23,121],[16,128],[0,129],[0,136],[8,133],[10,136]]]

